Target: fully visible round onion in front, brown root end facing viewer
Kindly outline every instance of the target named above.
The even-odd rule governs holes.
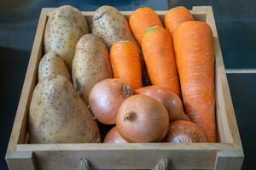
[[[156,99],[137,94],[120,106],[116,125],[129,142],[158,142],[166,136],[169,116],[165,106]]]

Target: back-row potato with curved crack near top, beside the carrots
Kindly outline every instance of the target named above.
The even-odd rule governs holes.
[[[96,9],[91,31],[92,34],[102,38],[108,49],[114,42],[120,40],[131,40],[137,44],[125,16],[111,6],[102,6]],[[137,47],[139,48],[138,44]]]

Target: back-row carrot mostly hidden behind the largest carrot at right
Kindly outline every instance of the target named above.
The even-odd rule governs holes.
[[[190,14],[189,9],[179,6],[177,8],[172,8],[166,13],[165,24],[166,30],[170,31],[172,37],[173,32],[177,27],[185,22],[194,20],[192,14]]]

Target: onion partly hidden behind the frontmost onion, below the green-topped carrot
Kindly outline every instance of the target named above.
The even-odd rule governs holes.
[[[187,116],[183,111],[182,101],[179,99],[177,94],[174,94],[172,91],[160,86],[148,86],[137,89],[136,93],[148,95],[165,105],[169,114],[170,122],[176,120],[189,121],[189,116]]]

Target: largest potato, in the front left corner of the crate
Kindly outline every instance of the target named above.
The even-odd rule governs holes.
[[[89,143],[100,141],[97,123],[71,82],[45,77],[34,89],[29,110],[30,142]]]

